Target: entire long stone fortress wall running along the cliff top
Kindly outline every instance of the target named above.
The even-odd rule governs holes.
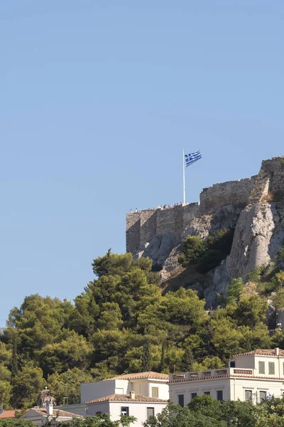
[[[126,214],[126,251],[133,254],[143,251],[146,243],[155,236],[172,233],[181,241],[182,232],[190,221],[200,214],[219,206],[234,205],[243,208],[253,201],[270,196],[274,201],[284,197],[284,157],[262,162],[257,176],[214,184],[203,189],[200,204],[178,205],[169,209],[147,209]]]

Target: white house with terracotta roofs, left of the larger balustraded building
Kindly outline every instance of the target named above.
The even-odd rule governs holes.
[[[157,415],[168,404],[169,391],[166,374],[141,372],[116,376],[104,381],[81,384],[81,404],[86,404],[86,415],[110,413],[111,420],[122,415],[137,418],[133,427],[151,415]]]

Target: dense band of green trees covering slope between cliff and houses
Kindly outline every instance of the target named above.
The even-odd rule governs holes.
[[[214,244],[218,251],[219,243]],[[198,252],[197,245],[192,256]],[[35,404],[45,385],[58,404],[65,396],[75,404],[82,381],[143,369],[213,369],[224,366],[232,354],[284,344],[282,331],[273,337],[268,333],[266,290],[244,292],[240,279],[231,283],[219,309],[208,313],[193,290],[163,295],[148,258],[133,260],[129,253],[109,251],[92,268],[95,278],[74,305],[30,295],[11,310],[0,337],[4,408]],[[281,283],[283,273],[278,269],[273,274],[271,280]]]

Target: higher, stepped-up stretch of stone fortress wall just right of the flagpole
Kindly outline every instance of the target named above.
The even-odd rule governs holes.
[[[246,206],[255,182],[256,176],[252,176],[251,178],[239,179],[239,181],[214,184],[212,187],[203,189],[200,194],[200,212],[229,204],[236,207]]]

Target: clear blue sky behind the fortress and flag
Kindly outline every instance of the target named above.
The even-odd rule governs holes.
[[[125,213],[251,176],[284,154],[284,3],[0,4],[0,326],[72,300],[125,251]]]

